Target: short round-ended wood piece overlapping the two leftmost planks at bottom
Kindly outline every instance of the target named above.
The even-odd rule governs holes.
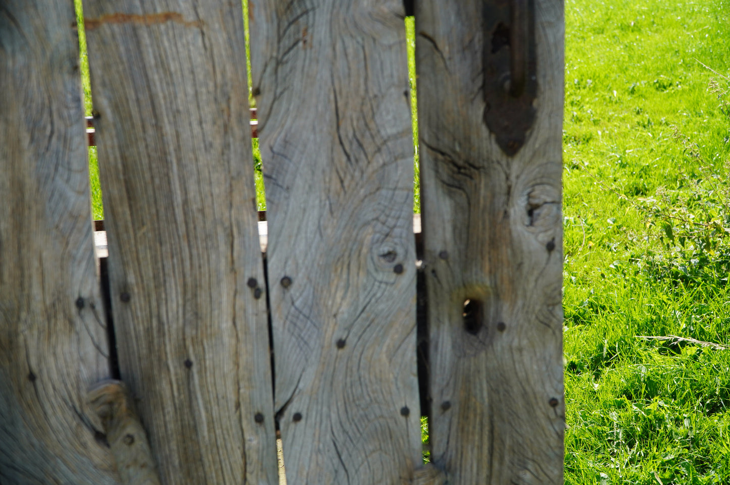
[[[88,402],[101,419],[124,485],[160,485],[147,434],[122,381],[107,379],[88,390]]]

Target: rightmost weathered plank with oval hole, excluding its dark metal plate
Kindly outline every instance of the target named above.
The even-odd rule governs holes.
[[[416,2],[431,460],[453,485],[563,483],[563,3],[534,5],[537,116],[507,157],[483,122],[483,2]]]

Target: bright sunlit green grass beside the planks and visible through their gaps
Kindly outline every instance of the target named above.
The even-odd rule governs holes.
[[[730,1],[565,8],[566,484],[730,484]]]

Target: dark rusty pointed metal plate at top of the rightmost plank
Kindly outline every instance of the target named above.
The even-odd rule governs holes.
[[[534,0],[483,1],[484,122],[507,155],[523,147],[535,117]]]

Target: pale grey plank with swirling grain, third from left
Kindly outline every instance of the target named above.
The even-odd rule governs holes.
[[[420,465],[403,3],[250,5],[286,479],[401,484]]]

